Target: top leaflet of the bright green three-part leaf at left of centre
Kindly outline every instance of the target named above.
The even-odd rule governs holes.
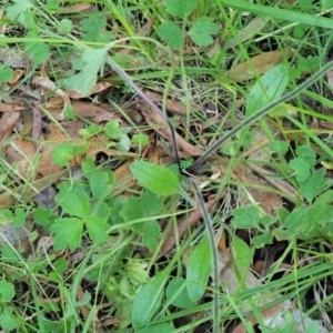
[[[56,199],[58,201],[58,195]],[[89,215],[89,200],[87,195],[79,198],[75,193],[62,193],[59,204],[68,214],[82,219]]]

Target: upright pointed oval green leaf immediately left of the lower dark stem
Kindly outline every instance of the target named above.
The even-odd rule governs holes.
[[[186,289],[192,302],[199,301],[205,292],[212,272],[212,254],[208,235],[191,253],[186,268]]]

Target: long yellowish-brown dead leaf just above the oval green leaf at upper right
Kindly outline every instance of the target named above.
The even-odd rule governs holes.
[[[248,81],[265,73],[283,60],[291,58],[292,54],[293,51],[291,49],[264,52],[251,58],[250,61],[236,64],[225,75],[238,82]]]

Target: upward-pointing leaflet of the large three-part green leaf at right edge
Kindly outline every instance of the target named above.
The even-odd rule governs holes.
[[[325,170],[313,171],[312,175],[300,184],[302,195],[311,203],[313,199],[325,188],[329,179],[325,178]]]

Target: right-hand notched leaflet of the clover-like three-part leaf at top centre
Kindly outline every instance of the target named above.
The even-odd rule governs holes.
[[[208,47],[214,42],[211,34],[219,32],[219,26],[213,23],[210,18],[202,17],[196,20],[189,31],[192,40],[200,47]]]

